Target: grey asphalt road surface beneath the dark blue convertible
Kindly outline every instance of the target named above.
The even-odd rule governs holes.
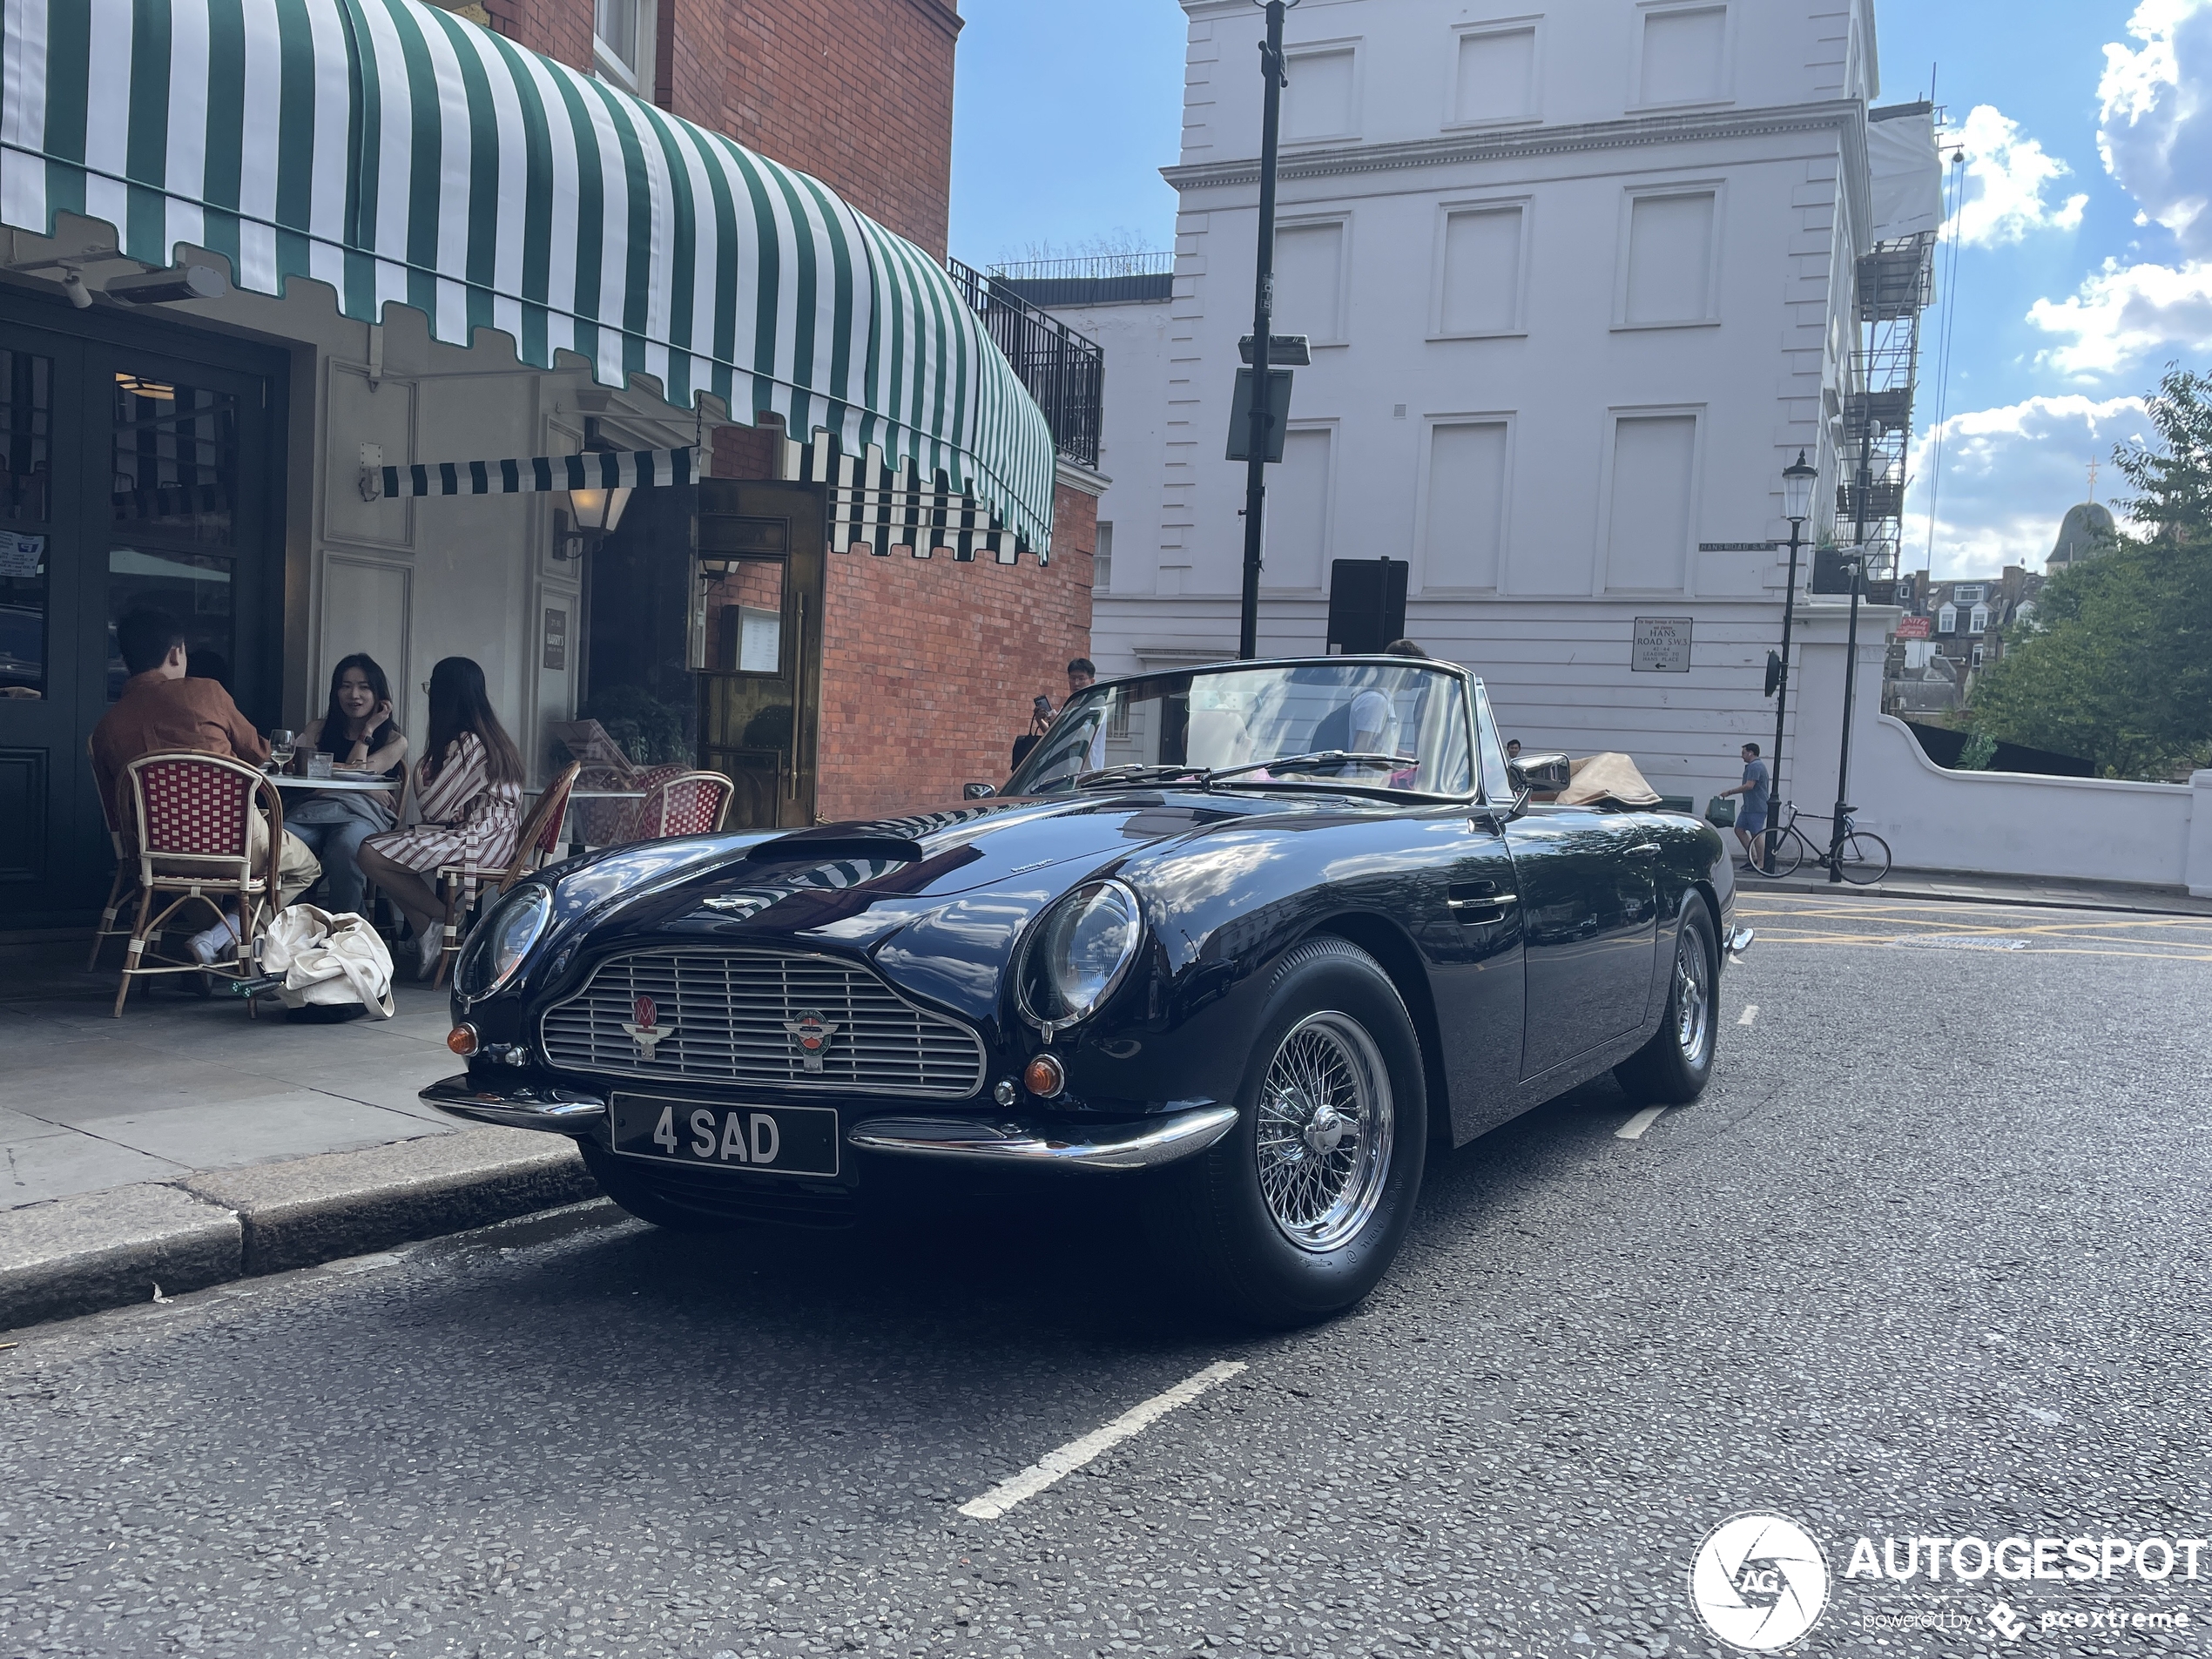
[[[1113,1203],[1051,1203],[599,1208],[24,1332],[0,1655],[1705,1655],[1739,1511],[1825,1551],[1801,1652],[2212,1652],[2212,1551],[1951,1548],[2212,1533],[2212,922],[1745,909],[1697,1106],[1604,1082],[1431,1164],[1321,1329],[1177,1312]],[[1860,1537],[1942,1577],[1847,1577]]]

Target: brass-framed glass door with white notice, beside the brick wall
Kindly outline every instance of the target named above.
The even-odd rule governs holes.
[[[737,781],[730,830],[814,823],[823,657],[823,495],[699,482],[699,763]]]

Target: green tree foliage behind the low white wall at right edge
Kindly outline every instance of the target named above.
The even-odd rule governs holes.
[[[2212,376],[2170,365],[2150,422],[2112,456],[2139,533],[2046,582],[1973,699],[1975,732],[2124,779],[2212,754]]]

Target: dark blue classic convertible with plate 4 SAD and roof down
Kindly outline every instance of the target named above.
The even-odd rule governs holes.
[[[513,887],[456,971],[465,1077],[670,1228],[834,1223],[905,1161],[1137,1183],[1172,1272],[1358,1301],[1429,1148],[1613,1071],[1712,1075],[1734,885],[1697,818],[1531,799],[1482,681],[1239,661],[1071,699],[960,810],[619,847]]]

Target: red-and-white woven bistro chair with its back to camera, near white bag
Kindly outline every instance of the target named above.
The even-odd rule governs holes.
[[[232,980],[254,975],[254,940],[268,916],[283,905],[276,860],[283,854],[283,799],[261,768],[228,754],[142,754],[124,768],[124,799],[131,803],[137,838],[137,920],[124,949],[124,982],[115,987],[115,1018],[122,1018],[131,982],[157,973],[217,973]],[[254,847],[254,816],[268,825],[263,847]],[[179,909],[206,905],[221,920],[237,905],[239,938],[230,964],[146,962],[146,945]]]

